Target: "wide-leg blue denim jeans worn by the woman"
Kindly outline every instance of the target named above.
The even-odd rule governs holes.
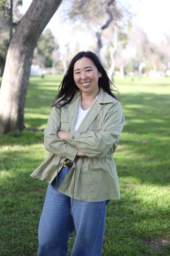
[[[71,167],[62,167],[58,186]],[[76,239],[71,256],[101,256],[107,201],[73,200],[57,192],[56,178],[47,189],[38,227],[38,256],[67,256],[68,240],[75,227]]]

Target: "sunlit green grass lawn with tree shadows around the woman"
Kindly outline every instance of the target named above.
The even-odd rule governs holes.
[[[29,175],[46,158],[43,129],[61,75],[31,77],[24,123],[0,137],[0,256],[37,255],[47,183]],[[121,199],[107,206],[103,256],[170,255],[170,78],[115,77],[126,124],[114,161]],[[69,240],[69,253],[75,232]],[[80,255],[81,256],[81,255]],[[88,255],[87,255],[88,256]]]

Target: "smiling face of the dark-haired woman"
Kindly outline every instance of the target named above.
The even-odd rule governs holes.
[[[97,70],[93,61],[87,57],[83,57],[74,63],[74,81],[76,86],[85,94],[98,94],[99,77],[102,73]]]

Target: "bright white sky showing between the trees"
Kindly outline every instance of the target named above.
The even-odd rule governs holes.
[[[24,14],[28,10],[32,0],[23,0],[22,2],[23,5],[20,7],[20,12]],[[151,41],[159,42],[163,33],[170,34],[169,1],[130,0],[129,2],[132,6],[132,11],[137,13],[137,17],[134,18],[134,23],[145,30]],[[80,51],[89,50],[89,47],[95,44],[91,33],[89,32],[87,35],[87,33],[85,34],[83,31],[77,31],[76,34],[72,35],[69,22],[63,22],[58,15],[60,7],[46,26],[46,28],[51,29],[52,33],[57,38],[60,44],[60,51],[64,53],[64,45],[68,42],[70,44],[70,50],[74,48],[76,42],[79,42],[81,45]]]

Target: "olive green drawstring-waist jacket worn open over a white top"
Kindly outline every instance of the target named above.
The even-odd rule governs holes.
[[[49,184],[60,171],[66,158],[73,161],[58,191],[82,201],[97,202],[119,199],[119,181],[113,161],[125,119],[120,103],[100,89],[95,103],[86,114],[78,131],[74,131],[81,91],[63,106],[53,108],[44,130],[46,160],[31,174]],[[99,133],[99,131],[101,132]],[[70,132],[68,141],[57,137],[58,131]],[[76,157],[80,150],[87,157]],[[74,170],[76,166],[76,175]]]

